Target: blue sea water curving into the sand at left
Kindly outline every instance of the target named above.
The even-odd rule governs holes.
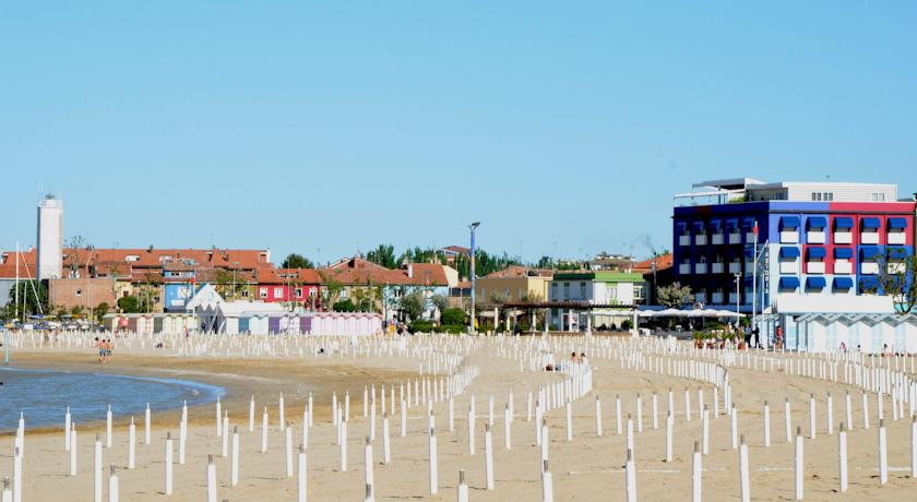
[[[186,399],[193,406],[226,394],[188,380],[16,368],[0,368],[0,431],[15,429],[20,413],[26,429],[63,427],[68,406],[78,423],[105,420],[108,405],[116,417],[134,416],[142,423],[146,403],[158,413],[180,408]]]

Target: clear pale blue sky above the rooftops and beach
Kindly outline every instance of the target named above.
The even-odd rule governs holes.
[[[915,2],[4,1],[0,247],[669,248],[714,177],[917,191]],[[320,250],[320,251],[319,251]]]

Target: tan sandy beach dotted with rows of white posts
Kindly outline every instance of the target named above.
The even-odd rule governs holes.
[[[413,345],[415,342],[409,340]],[[420,343],[419,340],[417,343]],[[426,343],[426,342],[424,342]],[[456,343],[456,342],[443,342]],[[563,407],[547,413],[549,426],[549,468],[553,481],[553,499],[559,501],[621,500],[624,497],[623,465],[627,457],[626,438],[616,433],[615,398],[620,396],[622,413],[636,415],[636,396],[642,398],[641,432],[634,434],[636,495],[639,500],[686,500],[691,497],[692,452],[702,438],[702,420],[698,414],[698,390],[711,407],[710,452],[703,455],[703,499],[739,500],[739,451],[730,445],[729,417],[725,414],[723,390],[718,391],[720,416],[713,418],[714,386],[695,379],[667,375],[668,364],[687,361],[690,352],[679,346],[681,354],[667,356],[643,348],[646,368],[627,368],[622,355],[627,339],[561,338],[536,348],[538,342],[528,338],[476,339],[465,343],[464,367],[474,367],[477,378],[454,398],[455,430],[448,430],[448,403],[433,404],[438,444],[438,491],[429,490],[428,434],[426,406],[408,408],[407,435],[400,437],[400,411],[391,423],[392,462],[382,463],[381,411],[377,417],[377,438],[372,442],[376,500],[456,500],[458,470],[464,469],[469,500],[540,500],[541,476],[539,451],[536,446],[535,425],[526,420],[527,393],[539,385],[560,382],[559,372],[521,371],[532,354],[544,357],[553,354],[564,360],[571,348],[588,350],[592,366],[592,392],[572,402],[573,437],[565,438]],[[457,344],[457,343],[456,343]],[[603,354],[603,347],[606,352]],[[214,405],[189,411],[189,439],[184,465],[176,464],[174,493],[164,494],[164,439],[170,431],[177,437],[179,411],[155,413],[152,444],[142,441],[142,426],[136,446],[136,468],[127,469],[127,420],[115,428],[112,447],[104,449],[103,465],[118,467],[122,500],[206,500],[207,455],[215,455],[219,500],[297,500],[296,476],[285,475],[284,432],[277,421],[277,399],[283,392],[286,419],[294,422],[293,437],[297,445],[301,439],[302,410],[308,392],[314,399],[314,426],[309,431],[308,495],[310,500],[364,500],[364,445],[369,434],[369,421],[362,417],[365,385],[381,386],[422,379],[417,370],[418,358],[410,355],[366,354],[359,357],[330,358],[225,358],[177,357],[174,354],[153,355],[148,351],[117,355],[110,363],[99,367],[85,350],[26,349],[16,351],[15,364],[22,368],[57,368],[73,371],[107,371],[119,374],[164,375],[196,380],[224,386],[224,406],[229,410],[230,428],[239,428],[239,483],[229,486],[229,458],[222,457],[222,438],[216,435]],[[603,357],[607,356],[607,357]],[[569,356],[565,356],[569,358]],[[711,356],[713,358],[717,355]],[[785,440],[784,399],[793,409],[793,429],[801,427],[805,437],[805,500],[913,500],[917,480],[910,477],[912,419],[902,411],[892,419],[892,404],[885,395],[884,422],[889,454],[889,480],[880,487],[878,456],[878,409],[876,395],[869,393],[870,429],[864,430],[861,390],[831,379],[787,374],[770,370],[766,358],[794,361],[797,356],[750,352],[760,358],[758,369],[730,366],[728,368],[731,398],[738,409],[739,432],[748,443],[750,492],[754,500],[794,498],[794,445]],[[716,359],[696,358],[692,360]],[[670,362],[671,361],[671,362]],[[749,359],[748,364],[751,364]],[[658,364],[658,366],[656,366]],[[426,375],[425,375],[426,376]],[[444,376],[444,375],[443,375]],[[818,376],[818,375],[817,375]],[[439,379],[440,376],[436,376]],[[691,420],[687,421],[684,390],[692,399]],[[674,392],[672,462],[665,462],[665,415],[668,410],[668,390]],[[347,471],[341,471],[340,447],[335,444],[337,429],[331,423],[331,394],[341,397],[350,393],[350,421],[347,435]],[[853,397],[853,430],[847,433],[849,488],[838,492],[838,427],[845,421],[845,392]],[[512,449],[504,445],[503,409],[513,393]],[[653,428],[652,396],[657,395],[658,428]],[[833,433],[827,431],[826,395],[833,396]],[[809,439],[809,397],[817,399],[817,437]],[[255,430],[248,430],[248,403],[254,395],[259,413]],[[476,452],[467,451],[467,409],[472,396],[476,399]],[[488,419],[488,399],[493,397],[497,418],[492,427],[495,488],[485,489],[484,427]],[[537,396],[537,394],[536,394]],[[596,435],[595,399],[602,399],[604,434]],[[763,444],[763,406],[770,404],[771,445]],[[267,406],[270,415],[269,449],[261,449],[261,410]],[[61,425],[63,411],[61,410]],[[622,417],[623,418],[623,417]],[[34,430],[26,428],[24,455],[23,500],[92,500],[93,438],[105,433],[104,417],[90,425],[78,426],[78,474],[69,476],[69,453],[64,451],[61,428]],[[140,419],[140,416],[138,417]],[[636,418],[634,418],[636,420]],[[139,422],[140,423],[140,422]],[[795,434],[795,433],[794,433]],[[12,476],[13,437],[0,438],[0,476]],[[177,456],[176,456],[177,458]],[[104,479],[108,479],[105,469]],[[107,487],[107,482],[106,482]],[[105,488],[107,493],[107,488]],[[108,500],[107,498],[105,500]]]

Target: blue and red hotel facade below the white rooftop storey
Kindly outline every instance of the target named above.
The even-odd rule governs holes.
[[[699,302],[742,312],[755,297],[761,312],[781,296],[818,304],[880,295],[882,262],[914,253],[913,202],[760,201],[674,213],[675,279]]]

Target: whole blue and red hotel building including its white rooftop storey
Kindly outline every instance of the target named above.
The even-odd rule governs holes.
[[[914,200],[897,200],[894,184],[695,183],[675,196],[675,279],[689,285],[698,302],[730,310],[738,302],[748,313],[757,268],[758,313],[773,311],[783,298],[814,312],[843,300],[856,311],[882,294],[883,260],[894,268],[914,253],[915,207]]]

